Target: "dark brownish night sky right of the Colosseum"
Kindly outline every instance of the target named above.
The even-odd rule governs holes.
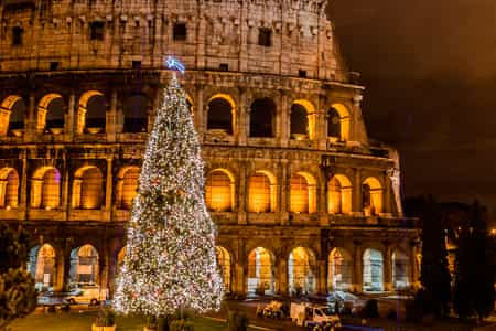
[[[406,196],[496,216],[496,1],[332,0],[369,137],[399,149]]]

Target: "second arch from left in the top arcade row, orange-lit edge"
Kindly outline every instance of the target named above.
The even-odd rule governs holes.
[[[37,104],[36,129],[40,132],[50,130],[54,135],[64,131],[64,99],[62,95],[51,93],[43,96]]]

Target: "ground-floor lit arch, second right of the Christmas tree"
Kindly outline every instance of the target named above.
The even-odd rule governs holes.
[[[271,252],[257,247],[248,255],[248,295],[272,295],[276,289],[274,258]]]

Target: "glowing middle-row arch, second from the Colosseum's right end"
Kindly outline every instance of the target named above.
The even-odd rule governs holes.
[[[330,214],[352,212],[352,182],[344,174],[335,174],[327,183],[327,211]]]

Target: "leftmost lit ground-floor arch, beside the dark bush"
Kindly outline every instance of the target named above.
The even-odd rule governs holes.
[[[47,291],[55,282],[55,249],[48,244],[30,250],[28,270],[39,291]]]

